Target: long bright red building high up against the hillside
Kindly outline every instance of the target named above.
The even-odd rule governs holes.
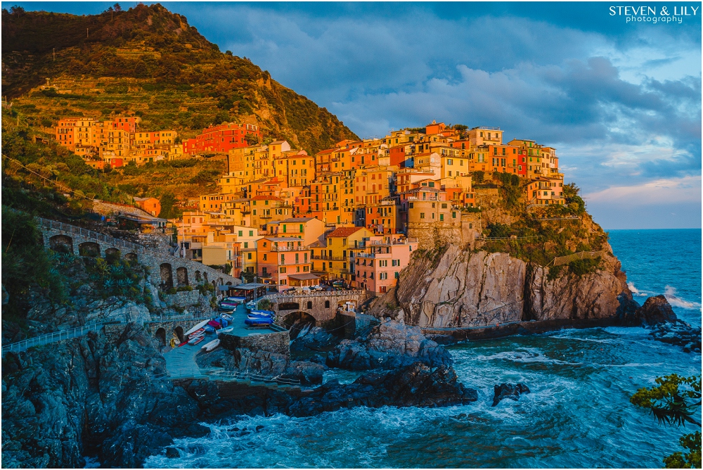
[[[262,133],[257,125],[225,122],[210,126],[202,134],[195,136],[195,139],[183,141],[183,153],[228,153],[232,148],[249,146],[247,135],[257,136],[259,141],[262,140]]]

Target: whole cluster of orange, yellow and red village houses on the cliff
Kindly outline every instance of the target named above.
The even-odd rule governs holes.
[[[134,198],[141,210],[117,208],[116,215],[141,231],[174,231],[183,258],[278,291],[342,281],[387,292],[413,251],[430,248],[433,230],[482,236],[475,194],[491,189],[475,186],[484,174],[524,179],[531,205],[565,204],[555,148],[526,139],[503,143],[498,127],[433,120],[309,155],[287,141],[264,140],[257,125],[225,122],[181,142],[174,130],[144,131],[139,122],[65,118],[54,131],[56,141],[97,169],[226,160],[219,190],[182,201],[179,219],[160,219],[153,197]]]

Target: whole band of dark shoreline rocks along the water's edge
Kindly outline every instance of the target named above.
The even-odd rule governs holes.
[[[648,299],[643,307],[630,305],[628,312],[610,319],[465,330],[474,336],[463,336],[461,330],[458,335],[433,334],[430,329],[425,335],[418,326],[383,319],[354,340],[340,341],[317,330],[310,338],[297,338],[294,349],[311,354],[305,359],[246,349],[216,350],[197,359],[200,367],[299,379],[300,388],[157,379],[165,372],[160,345],[143,326],[128,324],[119,337],[91,333],[4,357],[3,462],[10,468],[82,467],[84,456],[96,455],[102,466],[139,467],[150,455],[170,452],[175,457],[174,439],[207,435],[209,428],[201,423],[242,414],[307,417],[357,406],[468,404],[477,400],[477,391],[458,381],[451,353],[443,347],[466,339],[626,325],[652,329],[653,339],[686,352],[700,350],[700,329],[676,319],[665,298]],[[330,367],[366,373],[353,383],[322,384]],[[501,384],[495,400],[517,400],[521,393],[529,393],[524,384]]]

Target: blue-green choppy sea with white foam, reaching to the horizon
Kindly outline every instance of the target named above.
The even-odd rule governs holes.
[[[664,294],[679,318],[701,324],[701,231],[612,230],[635,300]],[[639,327],[570,329],[472,341],[449,348],[471,405],[357,407],[316,417],[240,417],[206,424],[204,438],[176,440],[180,457],[149,457],[152,468],[662,467],[692,432],[657,421],[629,402],[657,376],[701,372],[701,355]],[[325,381],[358,374],[330,372]],[[494,385],[531,393],[492,407]],[[228,428],[260,432],[238,437]]]

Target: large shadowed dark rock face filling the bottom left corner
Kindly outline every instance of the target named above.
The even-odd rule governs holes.
[[[153,376],[165,360],[146,331],[88,334],[3,361],[2,438],[6,467],[141,466],[155,449],[202,436],[198,405]]]

